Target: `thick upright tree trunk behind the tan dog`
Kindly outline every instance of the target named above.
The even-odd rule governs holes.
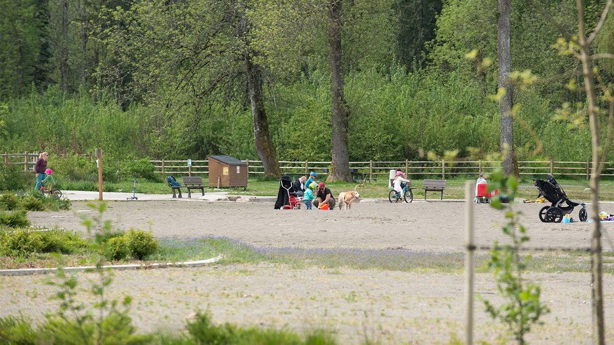
[[[330,2],[330,76],[332,93],[332,165],[327,181],[352,182],[349,174],[348,118],[349,109],[343,95],[343,69],[341,68],[341,6],[342,0]]]

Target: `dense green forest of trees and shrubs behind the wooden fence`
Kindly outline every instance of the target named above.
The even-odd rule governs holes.
[[[3,152],[274,166],[501,150],[496,0],[0,2]],[[540,4],[577,32],[575,0]],[[587,28],[609,4],[584,1]],[[571,43],[530,1],[510,23],[518,159],[590,160]],[[614,53],[612,15],[591,48]],[[605,126],[614,63],[594,72]]]

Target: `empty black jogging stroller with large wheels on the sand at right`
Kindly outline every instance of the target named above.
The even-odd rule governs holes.
[[[560,223],[563,219],[563,215],[571,214],[573,212],[573,208],[577,206],[582,206],[580,211],[578,211],[578,218],[580,219],[580,222],[586,222],[586,219],[588,219],[588,214],[586,213],[585,203],[577,203],[569,200],[561,185],[556,183],[554,176],[548,174],[546,180],[532,180],[534,181],[534,185],[537,187],[537,190],[539,190],[540,195],[543,195],[546,200],[552,203],[550,206],[544,206],[542,209],[540,209],[539,219],[542,222]]]

